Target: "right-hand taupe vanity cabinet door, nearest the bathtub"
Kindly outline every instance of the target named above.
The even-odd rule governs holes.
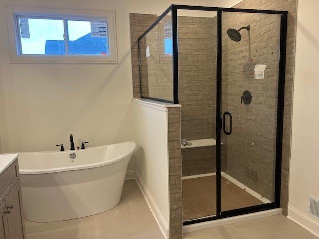
[[[10,239],[25,239],[24,217],[22,211],[21,187],[18,182],[5,199]]]

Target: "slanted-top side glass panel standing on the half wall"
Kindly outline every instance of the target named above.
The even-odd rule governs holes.
[[[140,39],[138,44],[141,96],[173,102],[171,13]]]

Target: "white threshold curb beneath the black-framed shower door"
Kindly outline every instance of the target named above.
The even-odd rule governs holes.
[[[256,213],[243,214],[243,215],[229,217],[229,218],[222,218],[222,219],[207,221],[203,223],[195,223],[195,224],[183,226],[183,233],[190,233],[190,232],[203,230],[207,228],[224,226],[227,224],[240,223],[240,222],[245,222],[249,220],[256,220],[256,219],[270,217],[270,216],[274,216],[278,214],[282,214],[281,208],[275,208],[275,209],[260,211]]]

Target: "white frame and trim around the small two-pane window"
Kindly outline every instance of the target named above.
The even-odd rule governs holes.
[[[10,44],[11,63],[117,63],[117,44],[115,11],[70,10],[40,7],[14,7],[7,6],[7,24]],[[19,33],[18,17],[34,17],[45,19],[59,19],[64,22],[64,34],[68,37],[66,20],[106,21],[108,24],[109,55],[33,55],[20,54],[21,39]],[[65,51],[68,52],[67,41]]]

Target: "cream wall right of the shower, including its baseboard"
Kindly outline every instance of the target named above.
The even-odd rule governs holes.
[[[289,217],[319,235],[307,196],[319,198],[319,1],[298,2]]]

